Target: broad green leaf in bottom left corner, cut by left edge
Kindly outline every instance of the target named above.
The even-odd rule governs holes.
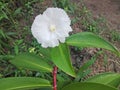
[[[10,77],[0,79],[0,90],[30,90],[51,88],[48,80],[33,77]]]

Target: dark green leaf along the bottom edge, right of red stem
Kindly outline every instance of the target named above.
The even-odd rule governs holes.
[[[63,87],[62,90],[117,90],[117,89],[99,83],[79,82],[69,84]]]

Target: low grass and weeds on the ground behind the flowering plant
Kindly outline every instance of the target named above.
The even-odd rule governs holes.
[[[9,63],[15,55],[23,52],[33,52],[37,55],[47,53],[37,41],[31,36],[31,24],[36,15],[42,13],[47,7],[54,6],[63,8],[71,17],[73,33],[81,31],[90,31],[95,34],[104,36],[104,31],[108,29],[104,17],[94,19],[92,13],[86,8],[83,1],[79,4],[69,0],[1,0],[0,1],[0,78],[9,76],[35,76],[51,80],[51,75],[41,72],[32,72],[30,70],[17,69]],[[120,41],[120,33],[110,31],[111,42]],[[94,59],[103,57],[106,64],[107,56],[101,49],[92,49],[93,54],[87,53],[88,49],[71,47],[72,55],[77,54],[74,65],[77,67],[84,63],[85,59]],[[80,55],[81,54],[81,55]],[[101,56],[102,55],[102,56]],[[89,57],[88,57],[89,56]],[[82,62],[83,61],[83,62]],[[116,61],[117,62],[117,61]],[[117,62],[119,63],[119,62]],[[88,64],[92,66],[92,64]],[[61,71],[59,71],[61,72]],[[58,72],[58,73],[59,73]],[[91,70],[87,70],[83,76],[89,77]],[[59,73],[65,79],[69,79],[64,73]],[[61,79],[61,78],[60,78]]]

